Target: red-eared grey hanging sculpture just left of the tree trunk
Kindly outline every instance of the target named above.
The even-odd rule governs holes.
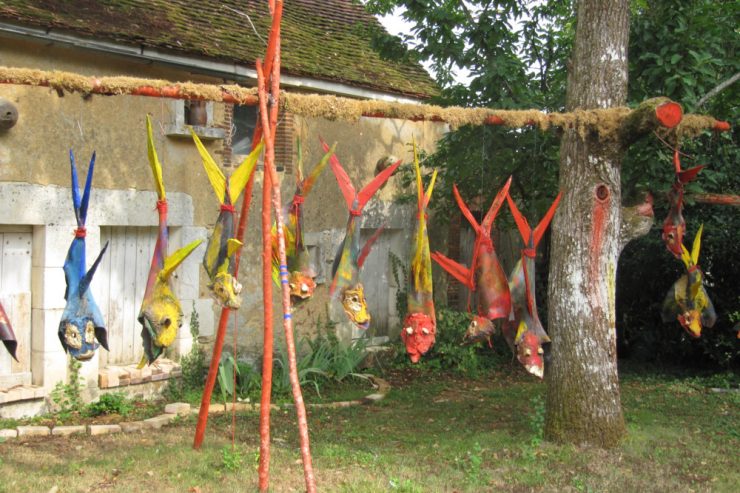
[[[537,315],[537,300],[534,291],[534,259],[537,255],[537,245],[555,215],[560,197],[561,194],[558,194],[547,214],[533,230],[529,227],[527,219],[517,209],[511,196],[506,196],[511,214],[514,216],[514,221],[525,246],[522,249],[521,259],[516,263],[509,276],[511,313],[509,319],[503,324],[502,332],[509,347],[516,354],[519,363],[529,373],[540,378],[543,377],[545,370],[542,345],[550,342],[550,338],[547,336]]]

